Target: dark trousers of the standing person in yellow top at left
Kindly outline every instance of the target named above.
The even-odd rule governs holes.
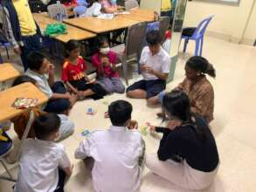
[[[42,51],[41,39],[38,34],[33,36],[23,36],[21,38],[23,46],[21,46],[21,60],[24,66],[24,72],[28,69],[27,55],[31,51]]]

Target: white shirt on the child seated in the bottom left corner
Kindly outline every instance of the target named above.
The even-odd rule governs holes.
[[[14,192],[53,192],[59,182],[58,168],[70,168],[60,143],[27,139],[21,149]]]

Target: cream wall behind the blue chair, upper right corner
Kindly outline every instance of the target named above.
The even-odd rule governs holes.
[[[221,38],[228,38],[233,42],[239,43],[243,38],[246,28],[246,21],[249,17],[254,0],[241,0],[239,6],[231,6],[218,3],[188,2],[184,26],[196,26],[202,19],[213,14],[207,31]],[[256,34],[256,10],[253,11],[250,28],[246,35],[253,37]],[[255,27],[254,27],[255,26]]]

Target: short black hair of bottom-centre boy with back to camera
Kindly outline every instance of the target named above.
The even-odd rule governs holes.
[[[131,119],[133,106],[126,100],[116,100],[108,106],[108,115],[113,126],[124,126]]]

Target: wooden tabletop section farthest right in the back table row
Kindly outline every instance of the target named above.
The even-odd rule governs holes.
[[[129,14],[121,14],[118,17],[125,17],[140,22],[153,22],[155,20],[154,10],[135,9],[129,10],[128,12]]]

